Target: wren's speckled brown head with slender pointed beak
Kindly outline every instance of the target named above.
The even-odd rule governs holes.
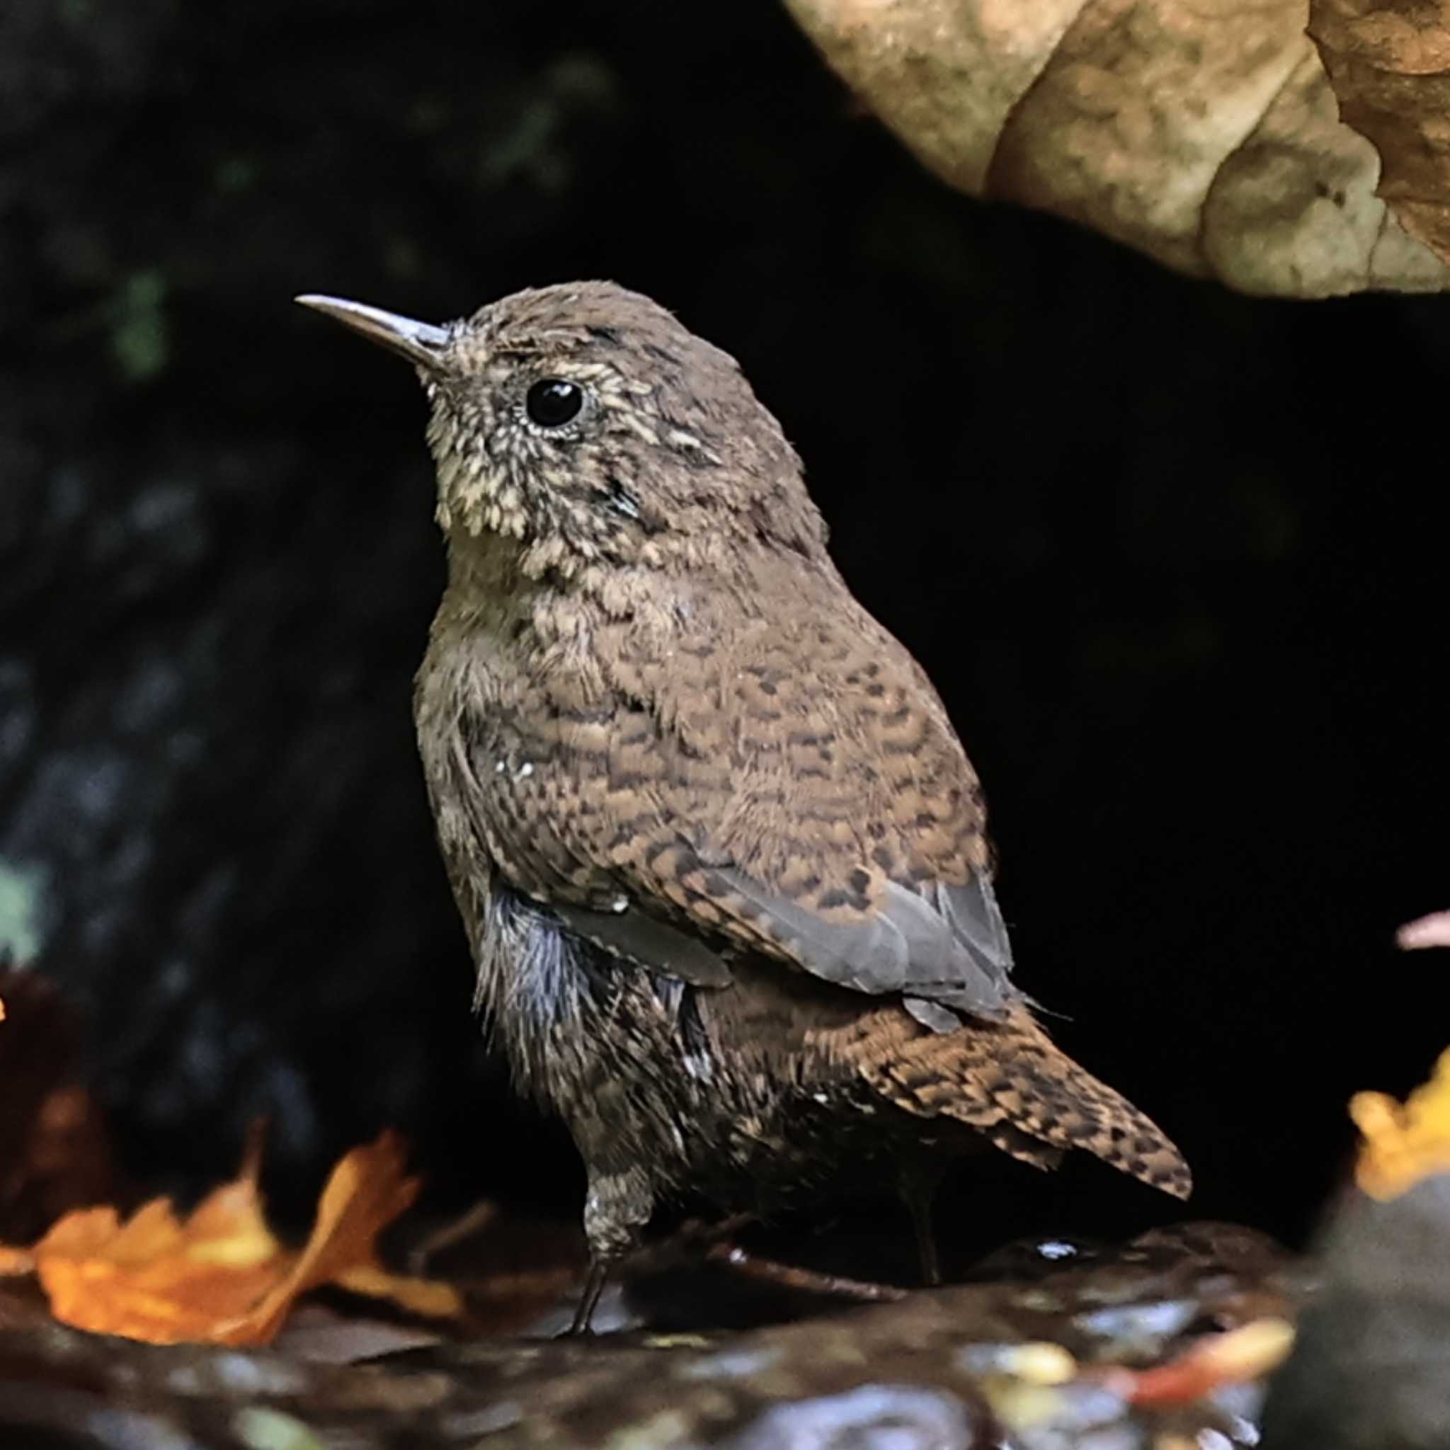
[[[735,360],[612,283],[519,291],[432,326],[297,299],[406,357],[432,405],[438,522],[518,539],[528,573],[700,561],[825,526]]]

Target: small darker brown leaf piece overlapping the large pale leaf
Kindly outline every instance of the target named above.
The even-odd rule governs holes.
[[[1450,4],[1311,0],[1309,10],[1340,115],[1380,155],[1380,197],[1450,261]]]

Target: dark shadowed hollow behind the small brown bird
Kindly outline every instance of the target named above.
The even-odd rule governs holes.
[[[1190,1214],[1301,1238],[1347,1095],[1450,1040],[1391,941],[1450,905],[1447,303],[1250,300],[956,196],[770,3],[0,13],[0,931],[83,1003],[126,1164],[194,1192],[270,1114],[296,1212],[396,1125],[439,1209],[574,1212],[413,753],[422,397],[290,303],[571,277],[740,357],[985,777],[1021,982]],[[974,1182],[948,1253],[1179,1212]]]

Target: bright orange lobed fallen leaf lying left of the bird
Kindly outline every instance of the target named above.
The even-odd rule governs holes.
[[[376,1240],[418,1193],[403,1176],[403,1146],[384,1132],[334,1169],[300,1254],[267,1227],[255,1146],[236,1180],[181,1221],[155,1199],[125,1222],[113,1208],[65,1215],[29,1253],[0,1250],[0,1272],[33,1262],[51,1312],[96,1334],[170,1344],[265,1344],[296,1298],[323,1283],[394,1299],[419,1314],[455,1315],[447,1285],[389,1275]]]

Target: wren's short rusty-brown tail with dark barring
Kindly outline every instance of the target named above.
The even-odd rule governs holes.
[[[838,1051],[899,1108],[970,1124],[1015,1159],[1051,1167],[1061,1150],[1083,1148],[1174,1198],[1193,1188],[1159,1125],[1061,1051],[1027,1008],[954,1032],[873,1012]]]

